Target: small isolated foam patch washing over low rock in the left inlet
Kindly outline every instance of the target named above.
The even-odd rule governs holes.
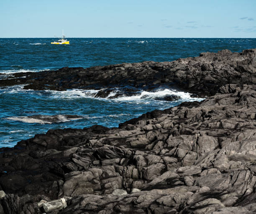
[[[12,121],[21,121],[23,123],[39,123],[39,124],[51,124],[69,122],[72,120],[82,119],[82,116],[77,115],[33,115],[33,116],[17,116],[8,117],[6,119]]]

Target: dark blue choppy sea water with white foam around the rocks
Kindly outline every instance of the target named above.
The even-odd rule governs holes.
[[[64,66],[90,67],[125,62],[172,61],[202,52],[256,48],[248,38],[70,38],[70,45],[51,45],[53,38],[0,38],[0,78],[15,72],[54,70]],[[113,127],[147,111],[193,101],[172,88],[141,91],[133,97],[94,98],[97,91],[33,91],[22,86],[0,88],[0,147],[46,133],[51,128]],[[117,89],[118,90],[118,89]],[[143,99],[143,95],[148,95]],[[178,94],[176,102],[155,97]]]

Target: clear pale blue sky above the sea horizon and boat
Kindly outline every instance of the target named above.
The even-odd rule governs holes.
[[[1,0],[0,38],[256,38],[256,0]]]

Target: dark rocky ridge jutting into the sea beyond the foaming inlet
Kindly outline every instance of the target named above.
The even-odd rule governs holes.
[[[15,73],[0,80],[0,87],[27,84],[24,89],[57,91],[107,88],[97,95],[104,98],[113,91],[112,87],[129,86],[131,88],[123,91],[129,95],[133,91],[151,91],[163,86],[177,87],[203,97],[214,95],[225,84],[255,84],[255,58],[256,49],[242,53],[221,50],[172,62],[147,61],[85,69],[65,67],[38,73]]]

